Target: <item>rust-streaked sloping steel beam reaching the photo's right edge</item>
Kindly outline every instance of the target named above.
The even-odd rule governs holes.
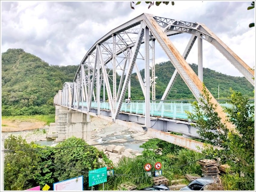
[[[249,67],[236,53],[234,53],[226,44],[223,43],[207,26],[201,24],[202,28],[205,29],[215,40],[223,46],[243,67],[245,67],[246,70],[248,70],[252,76],[254,76],[254,70],[252,70],[251,67]]]

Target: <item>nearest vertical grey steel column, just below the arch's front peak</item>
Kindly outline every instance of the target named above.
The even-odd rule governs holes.
[[[150,73],[149,73],[149,29],[146,26],[144,29],[144,42],[145,42],[145,125],[150,128]]]

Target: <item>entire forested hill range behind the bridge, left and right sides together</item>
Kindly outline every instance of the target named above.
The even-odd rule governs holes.
[[[191,67],[197,73],[197,65],[191,64]],[[2,115],[54,113],[54,95],[62,88],[64,82],[73,81],[77,68],[78,65],[49,65],[23,49],[8,49],[2,53]],[[170,61],[156,64],[156,99],[161,99],[174,70]],[[143,78],[144,69],[140,72]],[[245,77],[227,76],[208,68],[204,68],[203,73],[204,83],[215,98],[218,96],[218,85],[220,98],[230,95],[229,88],[240,91],[245,96],[254,97],[254,87]],[[131,79],[132,100],[143,100],[136,73],[132,74]],[[120,76],[117,76],[117,81],[119,80]],[[112,87],[112,83],[110,85]],[[194,99],[194,96],[178,76],[167,99]]]

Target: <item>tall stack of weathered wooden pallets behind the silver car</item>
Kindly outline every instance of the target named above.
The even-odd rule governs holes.
[[[217,177],[219,176],[219,169],[217,167],[217,162],[211,159],[202,159],[199,161],[202,170],[202,176],[204,177]]]

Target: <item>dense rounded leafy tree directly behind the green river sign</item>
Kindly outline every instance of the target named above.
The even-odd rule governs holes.
[[[112,167],[112,161],[103,152],[98,151],[93,146],[89,146],[83,139],[76,137],[70,137],[58,143],[53,157],[55,164],[54,176],[58,181],[83,175],[83,183],[86,190],[89,190],[89,170],[98,169],[106,165]]]

